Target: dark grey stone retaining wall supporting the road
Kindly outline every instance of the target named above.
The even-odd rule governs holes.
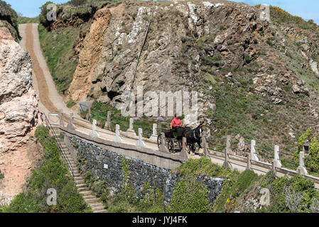
[[[65,135],[65,140],[69,140],[68,145],[75,145],[75,148],[71,149],[77,153],[77,157],[84,160],[83,170],[90,171],[99,180],[106,181],[112,196],[116,196],[124,188],[123,166],[127,163],[128,181],[134,185],[137,197],[141,198],[144,183],[150,183],[151,188],[158,188],[165,195],[166,204],[171,202],[175,183],[180,179],[180,175],[173,174],[170,169],[121,155],[116,150],[112,151],[112,148],[102,148],[74,135]],[[198,180],[207,186],[207,197],[213,204],[222,190],[224,179],[198,177]]]

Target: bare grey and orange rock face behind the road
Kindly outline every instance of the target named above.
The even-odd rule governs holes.
[[[108,16],[101,17],[101,14]],[[272,101],[279,104],[283,101],[282,87],[274,84],[285,84],[288,78],[294,93],[308,95],[308,88],[303,87],[304,82],[299,81],[296,73],[286,70],[286,62],[271,54],[279,51],[275,45],[267,44],[276,36],[277,44],[285,47],[288,43],[285,35],[291,36],[291,30],[284,26],[279,30],[261,21],[259,15],[255,7],[223,1],[173,2],[166,6],[126,3],[104,8],[94,16],[99,21],[93,23],[84,41],[82,60],[75,71],[70,96],[74,100],[88,96],[119,107],[121,94],[131,87],[144,85],[147,90],[166,88],[171,92],[195,89],[211,74],[230,72],[231,76],[233,70],[242,69],[251,62],[264,65],[253,78],[256,93],[268,92]],[[150,31],[134,78],[136,59],[149,21]],[[102,38],[104,43],[100,41]],[[303,48],[309,49],[308,40],[299,41]],[[305,50],[299,53],[306,56]],[[316,62],[309,61],[317,73]],[[275,71],[269,70],[269,66]],[[214,97],[203,96],[207,99],[203,103],[206,110],[214,109]]]

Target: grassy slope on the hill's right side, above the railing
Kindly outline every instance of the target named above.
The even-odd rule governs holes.
[[[283,33],[279,25],[284,23],[318,34],[318,26],[313,25],[311,21],[303,21],[276,7],[271,7],[271,20],[279,33]],[[318,93],[318,78],[309,67],[308,69],[301,67],[304,61],[301,55],[301,44],[298,43],[298,40],[284,36],[288,43],[286,47],[278,45],[279,37],[275,33],[269,43],[261,43],[260,40],[256,40],[258,55],[272,55],[266,52],[267,48],[264,48],[272,45],[276,48],[277,60],[283,62],[298,78],[303,79],[310,89]],[[222,137],[239,133],[244,136],[247,143],[254,139],[258,143],[257,146],[260,147],[258,153],[265,153],[269,157],[273,156],[274,145],[280,145],[281,150],[293,154],[297,149],[297,139],[292,139],[288,135],[290,127],[298,138],[307,128],[315,126],[307,106],[310,101],[303,94],[291,96],[291,87],[283,87],[282,99],[284,101],[279,105],[273,104],[269,96],[254,94],[252,78],[259,73],[260,67],[269,67],[271,70],[277,67],[276,62],[271,63],[274,64],[272,66],[270,62],[266,64],[269,65],[253,60],[243,69],[233,70],[232,79],[225,79],[227,73],[222,77],[220,74],[207,74],[202,86],[208,88],[211,85],[213,87],[210,92],[207,89],[207,94],[215,97],[217,106],[216,111],[210,113],[214,130],[216,130],[212,134]],[[318,106],[318,101],[312,105]]]

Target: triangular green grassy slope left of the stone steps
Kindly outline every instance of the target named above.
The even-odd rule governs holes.
[[[92,212],[82,196],[77,192],[75,182],[67,170],[63,157],[60,157],[55,139],[48,128],[40,126],[36,138],[44,148],[43,163],[28,179],[26,192],[14,197],[11,204],[0,207],[0,213],[82,213]],[[56,189],[57,206],[48,206],[47,189]]]

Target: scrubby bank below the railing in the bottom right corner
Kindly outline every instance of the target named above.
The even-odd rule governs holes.
[[[261,205],[261,189],[269,190],[269,205]],[[234,174],[225,183],[212,209],[233,213],[318,213],[318,190],[314,182],[300,175],[288,179],[272,172],[257,176],[252,171]]]

